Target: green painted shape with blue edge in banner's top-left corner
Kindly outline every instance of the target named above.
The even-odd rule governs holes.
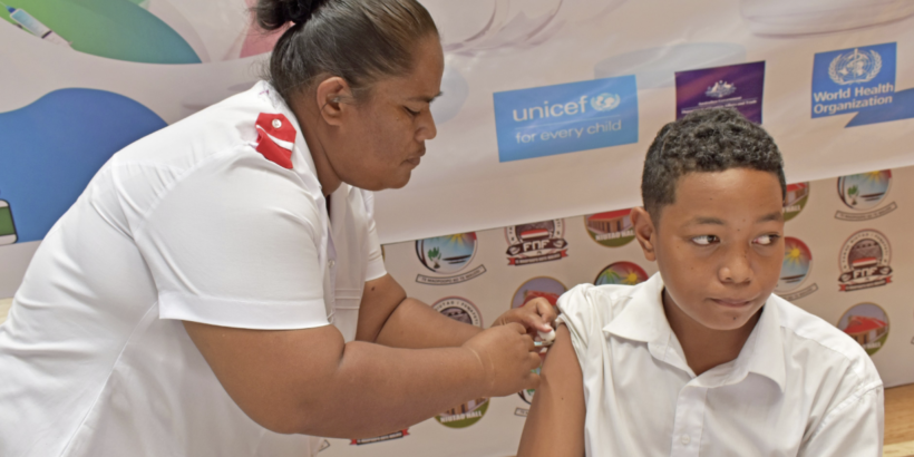
[[[134,0],[0,1],[25,10],[78,51],[143,64],[201,62],[181,35]],[[7,11],[0,18],[16,23]]]

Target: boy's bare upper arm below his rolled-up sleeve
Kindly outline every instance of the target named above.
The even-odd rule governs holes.
[[[543,363],[517,457],[584,455],[584,379],[562,324]]]

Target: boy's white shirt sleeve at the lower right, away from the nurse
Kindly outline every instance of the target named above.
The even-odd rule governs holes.
[[[885,430],[882,385],[838,403],[803,445],[800,457],[881,457]]]

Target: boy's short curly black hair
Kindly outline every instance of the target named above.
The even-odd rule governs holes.
[[[732,108],[692,111],[660,129],[644,159],[641,198],[658,221],[675,203],[679,178],[694,172],[750,168],[775,174],[787,195],[784,159],[771,136]]]

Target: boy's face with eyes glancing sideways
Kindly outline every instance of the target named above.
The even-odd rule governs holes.
[[[633,215],[648,260],[689,318],[713,330],[745,325],[775,290],[784,261],[780,183],[748,168],[689,173],[654,224]]]

